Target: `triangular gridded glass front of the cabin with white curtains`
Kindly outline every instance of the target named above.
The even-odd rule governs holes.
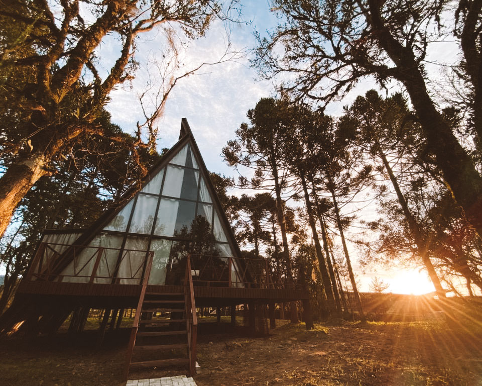
[[[103,229],[102,238],[111,239],[105,240],[105,246],[154,251],[149,284],[180,284],[188,253],[219,256],[223,264],[225,257],[233,256],[204,181],[207,176],[200,174],[187,143]],[[98,243],[98,237],[91,245]],[[99,268],[103,272],[118,259],[111,256]],[[118,277],[132,272],[135,264],[122,259]],[[121,283],[129,281],[133,280]]]

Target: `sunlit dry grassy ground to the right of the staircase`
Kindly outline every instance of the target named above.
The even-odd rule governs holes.
[[[480,385],[481,335],[440,322],[286,325],[264,339],[202,344],[200,386]]]

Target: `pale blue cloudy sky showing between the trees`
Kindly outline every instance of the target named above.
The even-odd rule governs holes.
[[[210,171],[236,176],[236,172],[222,160],[221,150],[226,141],[234,138],[234,130],[247,121],[246,114],[255,107],[260,98],[271,96],[275,92],[274,83],[259,79],[255,69],[250,67],[250,49],[256,45],[254,31],[261,34],[272,30],[278,19],[270,12],[266,0],[243,1],[243,20],[247,24],[230,26],[229,40],[233,50],[244,52],[245,56],[235,61],[228,61],[213,66],[203,67],[196,75],[183,78],[173,88],[166,104],[163,117],[157,122],[159,127],[159,149],[170,148],[179,136],[181,118],[187,118],[201,155]],[[165,47],[162,32],[148,36],[138,44],[137,60],[145,63],[148,59],[160,58]],[[184,69],[195,68],[203,61],[210,62],[220,58],[226,49],[228,40],[226,27],[220,22],[214,23],[206,36],[190,42],[185,50],[180,51]],[[103,57],[114,57],[114,45],[105,42],[99,50]],[[443,66],[455,60],[458,47],[451,42],[441,42],[429,47],[429,60],[426,63],[430,75],[436,79]],[[165,52],[164,52],[165,54]],[[109,68],[107,63],[105,68]],[[132,84],[111,93],[111,102],[107,106],[112,121],[125,131],[133,133],[136,123],[142,122],[143,116],[138,103],[138,94],[145,89],[146,68],[140,66]],[[393,83],[390,91],[398,91],[399,85]],[[356,95],[371,88],[377,88],[373,79],[361,81],[342,101],[330,104],[327,114],[340,114],[342,107],[350,104]],[[373,215],[375,208],[369,208],[366,215]],[[351,248],[352,255],[356,250]],[[384,269],[369,268],[364,272],[355,264],[359,274],[360,291],[369,291],[369,284],[374,276],[390,284],[388,291],[393,293],[421,294],[433,291],[428,276],[418,268]]]

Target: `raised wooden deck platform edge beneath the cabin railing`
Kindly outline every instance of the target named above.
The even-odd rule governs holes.
[[[180,293],[182,285],[148,285],[147,291],[152,293]],[[118,305],[135,308],[141,286],[136,284],[96,284],[69,283],[55,281],[23,281],[18,289],[22,298],[37,297],[47,301],[53,298],[65,302],[87,302],[93,308]],[[256,302],[259,304],[290,302],[308,299],[309,293],[304,289],[275,288],[234,288],[194,286],[197,307],[229,306]]]

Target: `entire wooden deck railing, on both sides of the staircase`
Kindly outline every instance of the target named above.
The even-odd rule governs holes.
[[[153,251],[43,242],[25,281],[141,284]],[[186,261],[194,286],[304,289],[300,266],[263,258],[190,254],[169,264],[166,284],[180,283]],[[180,276],[180,277],[179,277]]]

